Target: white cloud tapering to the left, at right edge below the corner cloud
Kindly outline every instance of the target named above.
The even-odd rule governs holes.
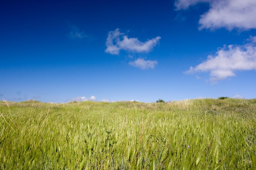
[[[194,67],[190,67],[184,73],[210,72],[210,81],[217,83],[218,80],[235,76],[235,71],[256,70],[256,43],[255,37],[251,37],[247,44],[224,46],[209,55],[207,60]]]

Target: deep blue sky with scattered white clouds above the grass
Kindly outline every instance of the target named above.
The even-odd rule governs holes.
[[[256,97],[255,0],[0,2],[0,98]]]

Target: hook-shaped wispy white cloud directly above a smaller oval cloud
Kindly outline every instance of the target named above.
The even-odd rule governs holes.
[[[120,39],[120,36],[123,35]],[[108,33],[108,38],[106,40],[107,49],[106,53],[112,55],[118,55],[120,50],[132,51],[132,52],[149,52],[159,43],[161,38],[158,36],[146,42],[141,42],[137,38],[128,38],[127,35],[121,33],[117,28],[115,31],[110,31]]]

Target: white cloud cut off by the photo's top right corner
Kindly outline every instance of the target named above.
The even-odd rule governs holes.
[[[199,29],[256,29],[256,0],[176,0],[177,10],[199,2],[209,2],[210,9],[201,15]]]

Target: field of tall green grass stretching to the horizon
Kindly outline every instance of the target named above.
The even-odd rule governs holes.
[[[0,102],[0,170],[256,170],[256,99]]]

